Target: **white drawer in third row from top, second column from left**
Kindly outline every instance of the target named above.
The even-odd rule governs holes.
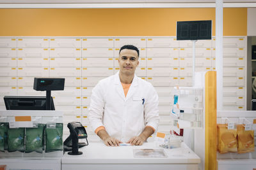
[[[18,58],[18,67],[49,67],[48,58]]]

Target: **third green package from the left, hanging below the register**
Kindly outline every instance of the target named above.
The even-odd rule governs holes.
[[[44,150],[44,124],[38,124],[35,128],[26,128],[25,152],[43,153]]]

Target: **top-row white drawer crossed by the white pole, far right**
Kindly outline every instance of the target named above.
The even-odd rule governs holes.
[[[231,38],[223,37],[223,47],[245,47],[246,39],[244,37],[240,38]],[[216,46],[216,39],[212,39],[212,46]]]

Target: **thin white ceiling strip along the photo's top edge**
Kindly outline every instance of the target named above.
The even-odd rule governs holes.
[[[20,3],[215,3],[214,0],[0,0],[4,4]],[[223,0],[223,3],[256,3],[256,0]]]

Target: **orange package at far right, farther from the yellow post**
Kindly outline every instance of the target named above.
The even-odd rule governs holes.
[[[237,125],[238,153],[254,151],[254,131],[245,131],[244,125]]]

